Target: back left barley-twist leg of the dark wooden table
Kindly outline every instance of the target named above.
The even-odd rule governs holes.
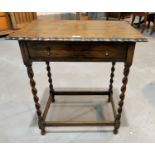
[[[48,61],[46,61],[46,65],[47,65],[46,69],[47,69],[47,76],[48,76],[48,82],[49,82],[50,95],[52,97],[52,102],[55,102],[50,63]]]

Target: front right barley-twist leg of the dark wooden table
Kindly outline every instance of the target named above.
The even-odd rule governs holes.
[[[119,101],[119,105],[118,105],[117,115],[115,118],[115,126],[114,126],[114,130],[113,130],[114,134],[118,133],[118,129],[120,127],[120,119],[121,119],[121,113],[122,113],[122,108],[123,108],[123,104],[124,104],[125,91],[126,91],[126,85],[128,82],[129,71],[130,71],[130,65],[125,64],[124,72],[123,72],[124,77],[122,80],[123,85],[121,87],[120,101]]]

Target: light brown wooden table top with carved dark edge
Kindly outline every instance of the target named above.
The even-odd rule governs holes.
[[[48,41],[147,41],[124,21],[36,20],[7,37],[13,40]]]

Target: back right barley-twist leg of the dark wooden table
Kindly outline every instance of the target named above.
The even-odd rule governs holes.
[[[115,62],[112,62],[112,67],[111,67],[111,74],[110,74],[110,85],[109,85],[109,98],[108,102],[110,102],[110,96],[113,94],[113,82],[114,82],[114,72],[115,72]]]

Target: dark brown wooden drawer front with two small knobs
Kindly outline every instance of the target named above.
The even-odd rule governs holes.
[[[40,43],[29,42],[29,55],[35,60],[124,60],[126,46],[95,43]]]

